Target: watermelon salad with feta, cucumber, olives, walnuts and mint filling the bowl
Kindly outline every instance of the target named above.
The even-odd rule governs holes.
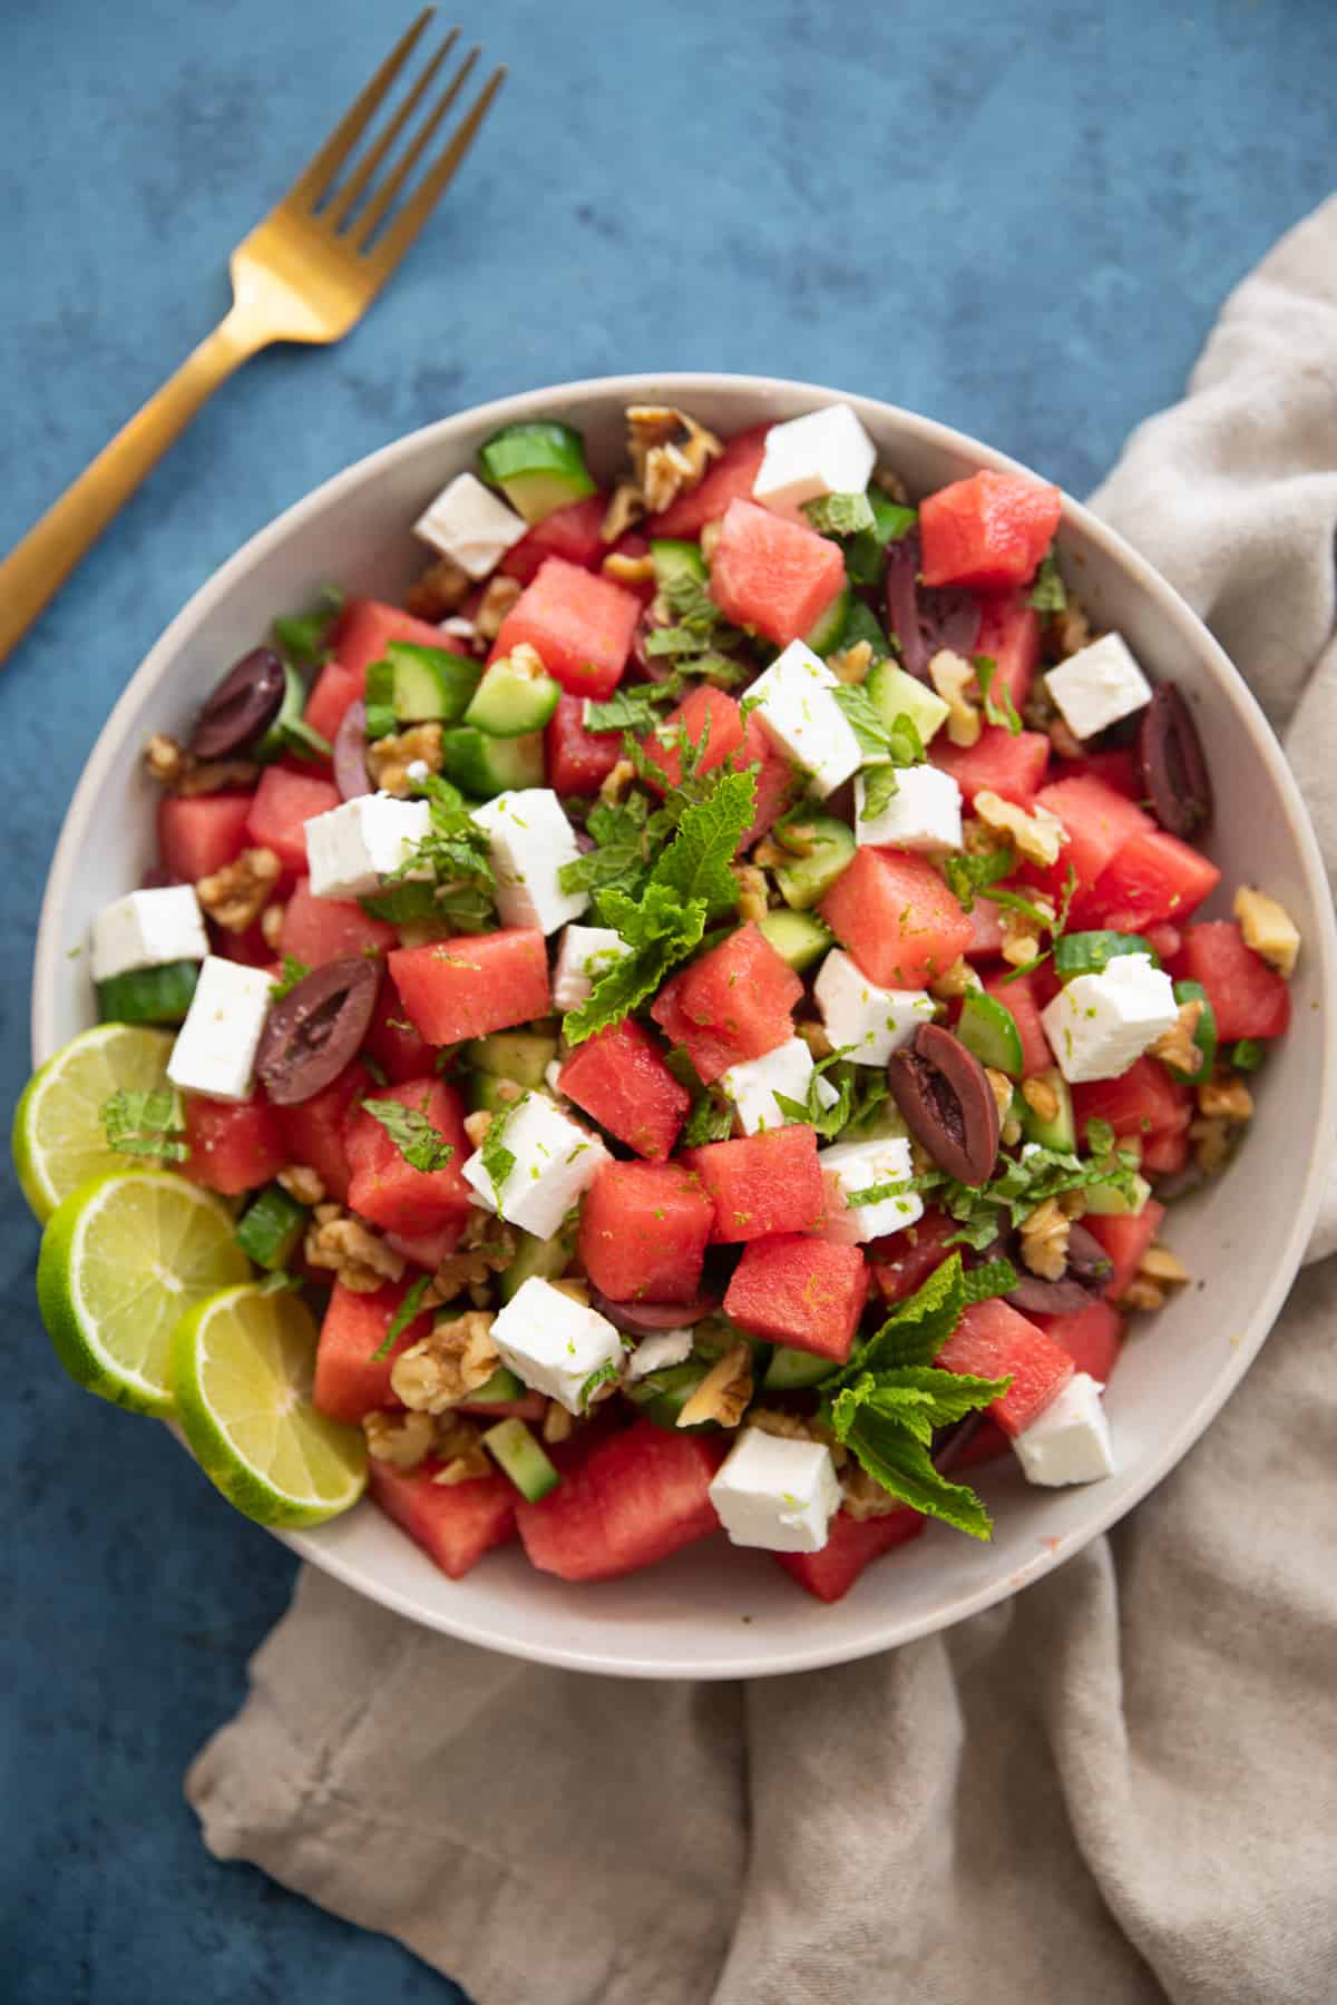
[[[611,491],[507,425],[403,606],[277,620],[148,744],[90,960],[178,1029],[108,1139],[319,1291],[311,1399],[451,1578],[724,1528],[836,1600],[988,1536],[974,1464],[1115,1470],[1299,938],[1259,886],[1199,916],[1193,704],[1058,521],[1018,473],[912,497],[840,403],[631,409]]]

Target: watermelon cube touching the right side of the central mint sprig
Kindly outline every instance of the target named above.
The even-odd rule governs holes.
[[[758,926],[748,924],[665,982],[649,1015],[686,1047],[700,1077],[712,1081],[730,1065],[760,1059],[794,1037],[794,1005],[802,992],[794,968]]]

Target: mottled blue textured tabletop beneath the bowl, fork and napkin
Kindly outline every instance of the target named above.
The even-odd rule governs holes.
[[[218,317],[229,247],[399,28],[365,0],[2,12],[0,549]],[[1080,493],[1329,192],[1331,0],[491,0],[465,26],[511,82],[393,291],[341,349],[229,385],[0,678],[22,788],[6,1105],[98,726],[188,593],[315,481],[485,397],[718,365],[912,405]],[[204,1855],[180,1772],[239,1704],[293,1564],[160,1430],[60,1377],[12,1185],[0,1247],[6,1999],[459,1999]]]

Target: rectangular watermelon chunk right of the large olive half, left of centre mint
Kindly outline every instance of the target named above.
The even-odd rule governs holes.
[[[551,1005],[547,948],[533,926],[401,946],[389,970],[405,1017],[429,1045],[509,1031],[545,1017]]]

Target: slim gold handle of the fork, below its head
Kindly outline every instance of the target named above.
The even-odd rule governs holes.
[[[0,662],[56,595],[116,509],[184,431],[198,407],[247,357],[265,347],[237,307],[186,355],[146,405],[102,447],[92,465],[46,509],[0,563]]]

